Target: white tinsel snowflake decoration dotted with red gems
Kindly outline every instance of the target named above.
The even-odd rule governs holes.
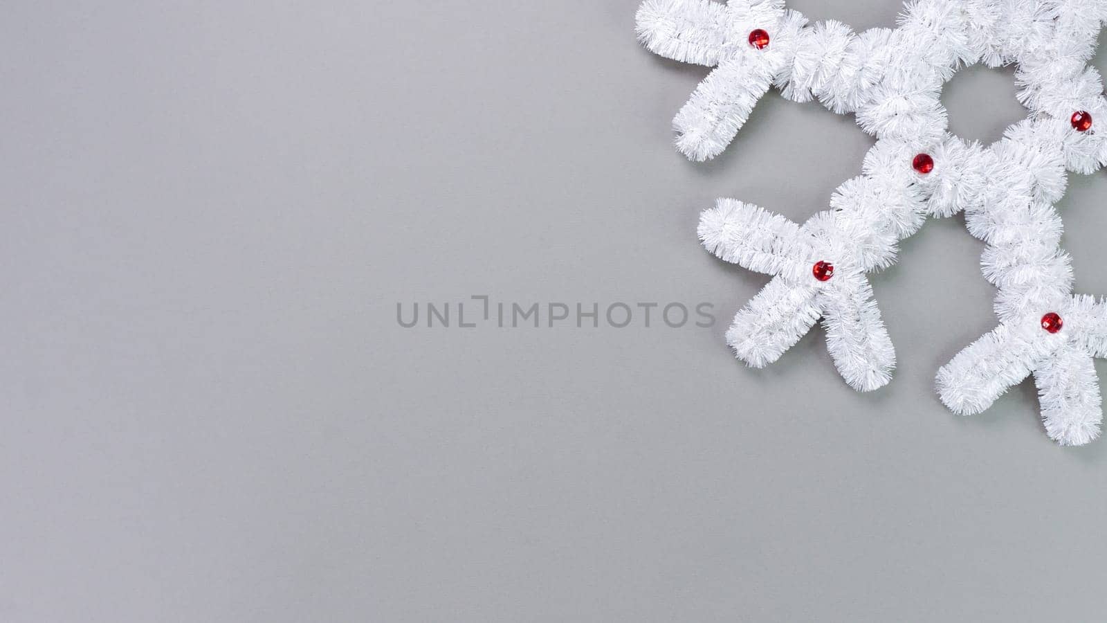
[[[965,212],[987,247],[981,265],[997,288],[1000,326],[938,372],[942,401],[962,415],[989,408],[1033,375],[1042,419],[1063,445],[1099,435],[1093,357],[1107,356],[1107,303],[1073,294],[1054,207],[1067,174],[1107,164],[1107,123],[1092,59],[1107,0],[917,0],[899,28],[855,33],[808,23],[783,0],[646,0],[639,38],[650,50],[715,69],[673,120],[692,160],[718,155],[757,101],[776,86],[855,113],[877,136],[862,174],[804,224],[720,200],[701,216],[707,251],[773,279],[726,334],[739,359],[775,361],[823,319],[838,371],[862,391],[896,365],[866,274],[893,264],[900,239],[927,216]],[[1030,115],[990,146],[946,132],[942,85],[961,67],[1015,63]]]

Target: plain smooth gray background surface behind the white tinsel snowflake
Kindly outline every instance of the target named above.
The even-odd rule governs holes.
[[[686,162],[706,70],[641,49],[637,4],[8,2],[0,621],[1103,620],[1107,440],[1054,446],[1030,384],[970,419],[932,390],[995,323],[960,218],[875,278],[887,388],[819,329],[734,360],[766,278],[699,211],[801,221],[871,139],[770,94]],[[944,101],[965,137],[1023,116],[1011,71]],[[1085,293],[1105,198],[1062,205]],[[721,321],[396,324],[472,294]]]

